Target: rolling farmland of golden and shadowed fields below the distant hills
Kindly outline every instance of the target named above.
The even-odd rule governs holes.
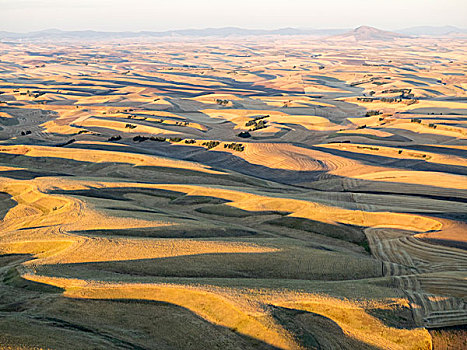
[[[0,43],[0,347],[467,347],[467,41],[334,39]]]

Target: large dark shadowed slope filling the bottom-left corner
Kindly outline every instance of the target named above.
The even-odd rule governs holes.
[[[73,299],[4,313],[2,341],[61,349],[278,349],[182,306],[141,299]],[[8,327],[9,320],[21,324]]]

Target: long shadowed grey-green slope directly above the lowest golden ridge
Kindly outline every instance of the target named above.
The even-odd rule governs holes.
[[[172,257],[41,265],[54,277],[259,278],[345,281],[381,277],[381,263],[366,255],[337,255],[317,249],[284,248],[274,252],[199,253]]]

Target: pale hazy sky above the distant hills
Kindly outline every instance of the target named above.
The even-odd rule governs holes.
[[[467,27],[467,0],[0,0],[0,30]]]

